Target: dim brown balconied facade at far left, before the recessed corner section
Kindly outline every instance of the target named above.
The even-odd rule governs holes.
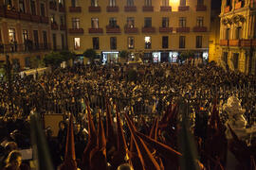
[[[0,62],[6,55],[18,71],[51,49],[48,0],[0,0]]]

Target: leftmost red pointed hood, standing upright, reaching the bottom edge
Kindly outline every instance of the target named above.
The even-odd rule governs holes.
[[[70,114],[69,124],[67,127],[66,144],[64,163],[61,166],[62,170],[77,170],[77,161],[74,142],[73,115]]]

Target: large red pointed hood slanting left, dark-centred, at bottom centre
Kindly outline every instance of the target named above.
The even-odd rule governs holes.
[[[126,114],[125,114],[125,117],[126,117],[126,120],[128,123],[128,127],[131,131],[131,136],[134,139],[134,142],[136,144],[137,154],[138,154],[139,160],[141,161],[143,169],[144,170],[148,170],[148,169],[149,170],[160,170],[159,164],[157,163],[157,161],[155,161],[155,158],[151,154],[151,152],[148,149],[148,147],[146,146],[146,144],[144,144],[144,142],[137,136],[136,127],[134,127],[131,120],[129,119],[129,117]]]

